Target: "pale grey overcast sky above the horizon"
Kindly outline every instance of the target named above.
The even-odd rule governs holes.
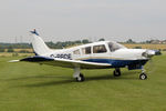
[[[0,0],[0,42],[166,39],[166,0]]]

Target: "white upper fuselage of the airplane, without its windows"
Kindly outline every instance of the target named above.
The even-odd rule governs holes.
[[[77,46],[69,49],[62,49],[62,50],[52,50],[52,52],[44,53],[45,57],[51,58],[60,58],[60,59],[71,59],[71,60],[87,60],[87,59],[115,59],[115,60],[142,60],[147,59],[143,57],[143,52],[146,51],[146,49],[127,49],[116,42],[121,48],[118,50],[111,51],[108,47],[110,41],[102,41],[102,42],[94,42],[83,46]],[[104,46],[106,51],[105,52],[94,52],[95,46]],[[91,48],[90,53],[85,53],[85,48]]]

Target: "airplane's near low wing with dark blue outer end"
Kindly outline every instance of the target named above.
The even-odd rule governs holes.
[[[39,57],[39,56],[24,58],[19,61],[37,62],[41,64],[49,64],[49,65],[63,67],[63,68],[80,67],[81,69],[104,69],[111,67],[111,64],[108,63],[96,63],[96,62],[86,62],[86,61],[66,60],[66,59],[53,59],[53,58]],[[13,60],[13,62],[15,62],[15,60]]]

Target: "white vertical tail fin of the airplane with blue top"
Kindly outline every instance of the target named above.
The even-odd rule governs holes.
[[[35,29],[33,31],[30,31],[30,32],[32,33],[32,37],[33,37],[32,47],[33,47],[34,53],[37,56],[44,56],[46,53],[52,52],[52,50],[48,48],[48,46],[41,39],[39,33],[35,31]]]

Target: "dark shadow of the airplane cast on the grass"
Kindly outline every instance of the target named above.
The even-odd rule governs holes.
[[[135,74],[133,72],[124,72],[122,77],[113,77],[112,74],[104,74],[104,75],[94,75],[94,77],[85,77],[84,82],[89,81],[101,81],[101,80],[138,80],[138,78],[129,77],[131,74]],[[127,77],[128,75],[128,77]],[[35,75],[35,77],[27,77],[27,78],[18,78],[12,80],[24,80],[24,79],[37,79],[37,78],[61,78],[65,80],[52,80],[46,82],[38,82],[32,84],[24,84],[20,87],[28,87],[28,88],[38,88],[38,87],[49,87],[49,85],[61,85],[61,84],[69,84],[69,83],[77,83],[75,79],[70,77],[60,77],[60,75]],[[83,83],[83,82],[80,82]]]

